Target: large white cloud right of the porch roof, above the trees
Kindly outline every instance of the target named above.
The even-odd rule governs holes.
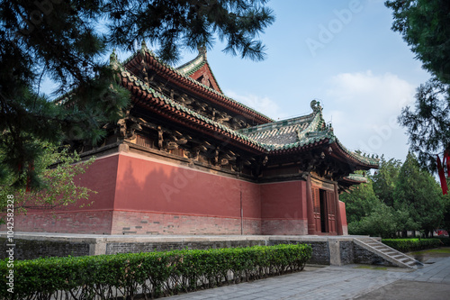
[[[330,80],[324,116],[348,148],[404,159],[408,138],[397,118],[414,101],[415,89],[391,73],[338,74]]]

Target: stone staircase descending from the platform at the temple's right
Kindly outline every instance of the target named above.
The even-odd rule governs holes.
[[[391,262],[395,266],[401,268],[418,268],[423,266],[423,264],[418,260],[411,258],[401,251],[386,246],[381,241],[376,241],[369,237],[356,238],[354,241],[365,250],[373,252],[374,254]]]

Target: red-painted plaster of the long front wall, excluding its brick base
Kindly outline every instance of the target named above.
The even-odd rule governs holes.
[[[256,184],[121,155],[114,210],[240,218],[241,191],[246,216],[259,217]]]

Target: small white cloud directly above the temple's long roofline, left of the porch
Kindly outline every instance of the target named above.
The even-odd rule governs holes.
[[[233,91],[226,91],[225,95],[228,95],[241,104],[247,105],[270,118],[276,119],[284,117],[284,115],[280,113],[280,107],[269,97],[252,94],[238,95],[238,93]]]

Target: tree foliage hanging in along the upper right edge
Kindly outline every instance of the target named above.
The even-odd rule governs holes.
[[[400,32],[431,79],[419,86],[414,110],[405,107],[400,123],[408,128],[411,149],[421,165],[436,171],[436,155],[450,150],[450,2],[394,0],[392,30]]]

